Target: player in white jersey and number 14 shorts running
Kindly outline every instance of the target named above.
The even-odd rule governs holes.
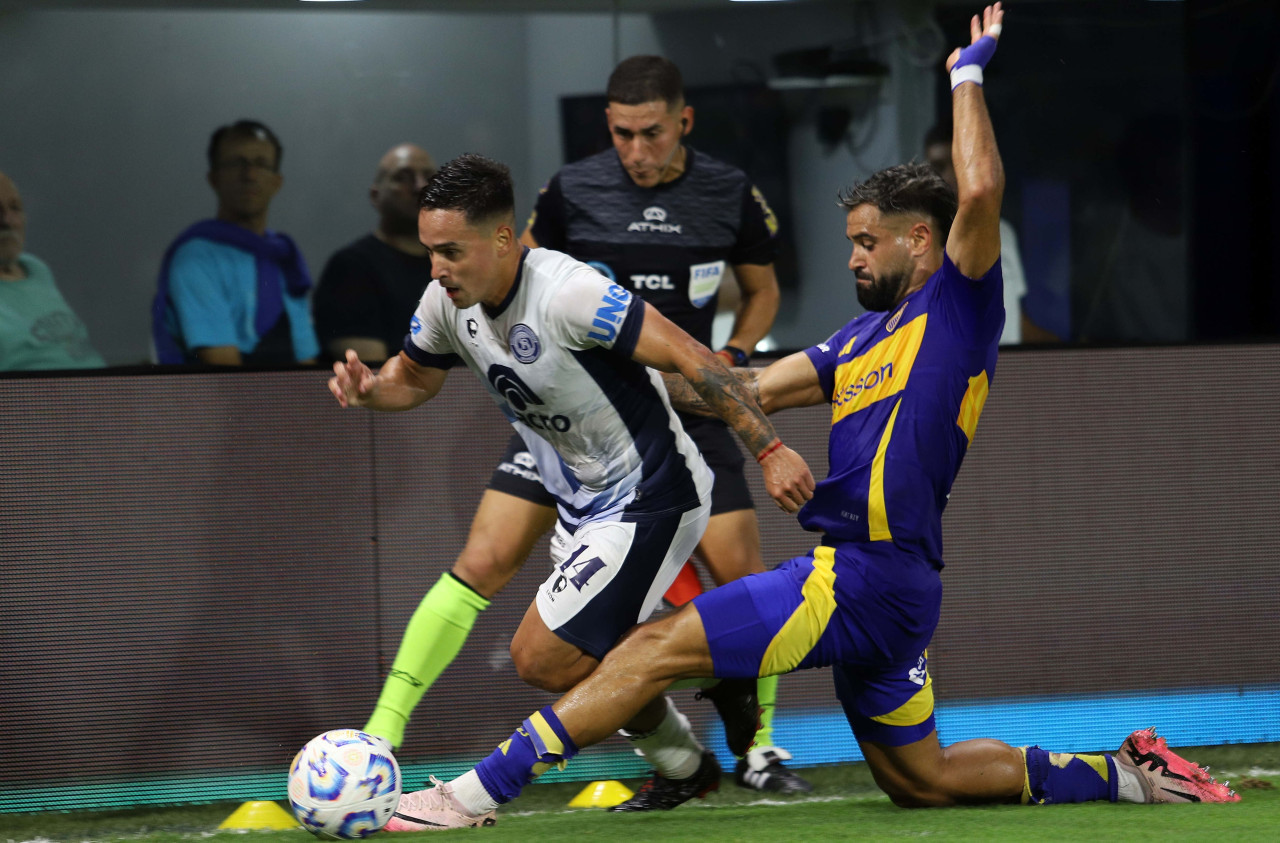
[[[404,349],[376,374],[348,351],[329,389],[343,407],[411,409],[439,393],[461,359],[544,477],[558,475],[549,484],[558,499],[553,571],[511,655],[522,679],[563,692],[653,611],[707,526],[712,476],[658,372],[684,376],[737,432],[783,510],[799,510],[814,480],[716,354],[590,266],[518,242],[502,164],[463,155],[440,168],[422,191],[419,237],[435,279]],[[635,746],[660,775],[705,779],[695,796],[718,787],[664,697],[626,729],[650,736]]]

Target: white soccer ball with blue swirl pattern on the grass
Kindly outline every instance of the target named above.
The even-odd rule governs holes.
[[[351,840],[387,825],[399,805],[399,765],[387,743],[358,729],[319,734],[289,765],[289,805],[308,831]]]

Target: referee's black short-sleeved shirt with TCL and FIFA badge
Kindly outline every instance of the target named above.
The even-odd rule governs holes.
[[[538,196],[539,246],[590,264],[709,345],[724,267],[772,264],[777,217],[746,174],[686,147],[680,178],[640,187],[605,150],[561,168]]]

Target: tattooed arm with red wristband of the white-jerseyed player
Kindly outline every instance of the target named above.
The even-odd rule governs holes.
[[[797,512],[813,498],[813,473],[804,458],[782,444],[759,402],[709,348],[695,340],[652,304],[643,302],[644,322],[632,358],[660,372],[678,372],[699,398],[755,454],[764,469],[764,487],[786,512]]]

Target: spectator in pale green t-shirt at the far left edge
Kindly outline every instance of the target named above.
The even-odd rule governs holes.
[[[26,239],[22,194],[0,173],[0,371],[105,366],[49,266],[22,251]]]

